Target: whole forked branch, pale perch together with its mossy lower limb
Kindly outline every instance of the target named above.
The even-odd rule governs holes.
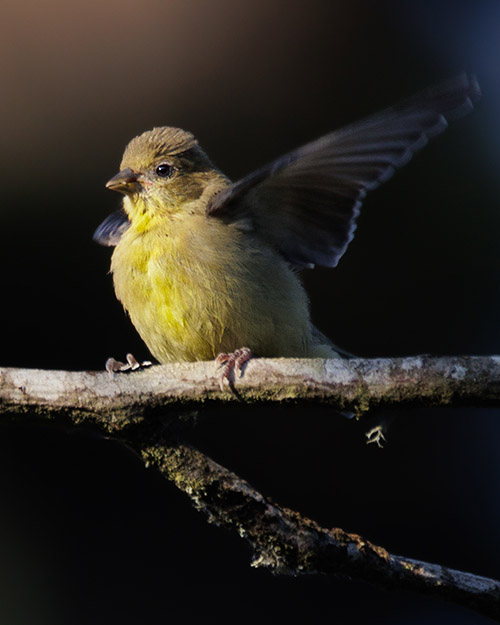
[[[221,391],[214,363],[107,373],[0,369],[0,414],[90,422],[114,432],[184,491],[209,520],[246,538],[253,566],[323,573],[406,588],[500,621],[500,583],[391,555],[360,536],[327,530],[266,499],[200,451],[165,440],[165,423],[193,406],[244,401],[326,403],[362,414],[390,405],[500,405],[500,357],[251,361],[235,392]],[[157,415],[157,419],[151,418]],[[148,417],[148,418],[146,418]]]

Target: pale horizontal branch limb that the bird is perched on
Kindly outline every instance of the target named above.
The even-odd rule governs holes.
[[[221,391],[213,362],[151,367],[132,374],[0,368],[0,413],[35,411],[89,420],[111,431],[146,415],[210,402],[316,402],[361,414],[389,405],[500,405],[500,357],[351,360],[254,359]]]

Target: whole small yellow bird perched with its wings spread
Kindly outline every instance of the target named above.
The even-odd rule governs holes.
[[[337,266],[367,192],[480,94],[462,74],[237,182],[190,132],[163,126],[133,138],[106,185],[122,207],[94,239],[114,247],[116,296],[154,358],[216,359],[228,378],[252,356],[345,356],[312,324],[300,272]]]

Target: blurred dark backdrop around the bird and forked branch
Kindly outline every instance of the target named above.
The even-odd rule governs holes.
[[[237,178],[463,70],[484,97],[371,194],[316,323],[365,356],[500,353],[500,4],[4,0],[1,365],[148,356],[95,227],[125,144],[191,130]],[[280,503],[395,553],[500,577],[498,410],[213,415],[196,443]],[[387,422],[386,448],[364,431]],[[357,582],[274,578],[118,443],[0,427],[3,625],[489,622]]]

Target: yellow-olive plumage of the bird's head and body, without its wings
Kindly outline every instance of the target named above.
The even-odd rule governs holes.
[[[171,175],[162,179],[158,164]],[[230,182],[191,134],[159,128],[136,137],[110,184],[125,194],[130,220],[111,261],[115,291],[160,362],[241,347],[257,356],[337,355],[313,339],[307,296],[283,257],[241,222],[206,215]]]

